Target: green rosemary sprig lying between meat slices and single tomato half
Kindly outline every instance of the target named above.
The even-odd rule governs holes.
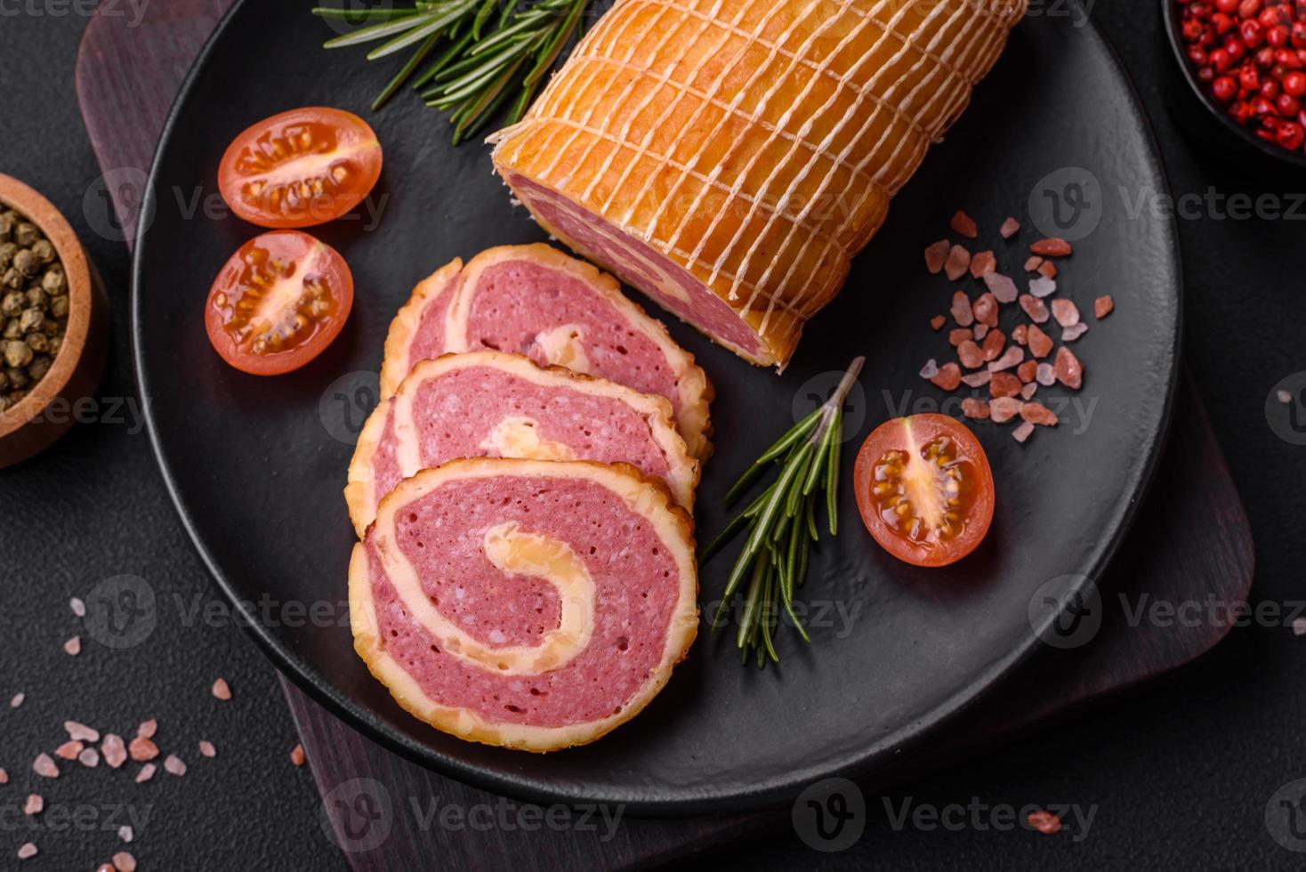
[[[739,556],[735,557],[721,606],[712,619],[712,631],[720,629],[735,594],[743,587],[743,615],[735,631],[735,646],[743,662],[755,655],[757,666],[771,659],[780,662],[772,633],[781,610],[794,629],[810,642],[807,629],[794,612],[794,589],[807,577],[811,546],[820,539],[816,529],[816,504],[824,501],[829,534],[838,534],[838,459],[840,433],[844,426],[844,401],[862,372],[865,358],[853,360],[838,388],[819,409],[776,440],[754,461],[726,493],[726,505],[743,495],[769,467],[778,465],[780,474],[726,529],[713,539],[699,557],[707,563],[727,542],[748,530]]]

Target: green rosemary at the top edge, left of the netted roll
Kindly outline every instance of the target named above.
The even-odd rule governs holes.
[[[380,108],[413,80],[427,106],[449,112],[453,144],[482,129],[516,94],[507,124],[516,124],[579,37],[592,0],[415,0],[411,7],[363,13],[319,7],[320,18],[366,25],[329,39],[325,48],[385,40],[368,60],[413,50],[407,63],[372,102]],[[432,52],[435,60],[418,72]],[[415,76],[415,80],[414,80]]]

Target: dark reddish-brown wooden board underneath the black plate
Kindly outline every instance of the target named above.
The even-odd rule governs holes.
[[[77,94],[101,168],[114,181],[107,187],[128,245],[140,184],[167,110],[229,4],[230,0],[149,4],[136,26],[102,9],[86,27],[77,59]],[[125,288],[114,304],[125,304]],[[1204,602],[1207,597],[1238,602],[1246,599],[1251,586],[1254,557],[1247,517],[1202,398],[1187,376],[1179,388],[1170,444],[1147,501],[1157,510],[1144,506],[1139,513],[1139,526],[1117,557],[1110,577],[1101,582],[1104,619],[1093,641],[1074,650],[1049,649],[1028,662],[995,693],[935,736],[931,762],[963,757],[980,743],[991,743],[1079,702],[1174,670],[1222,638],[1224,629],[1205,625],[1132,627],[1115,595],[1145,590],[1153,599],[1171,602]],[[413,799],[423,803],[435,799],[439,805],[456,805],[465,812],[491,809],[487,813],[496,820],[517,820],[517,804],[397,757],[345,726],[285,679],[282,684],[324,808],[332,812],[337,842],[346,849],[354,869],[631,868],[666,862],[768,824],[789,826],[788,808],[684,820],[623,817],[610,837],[602,821],[594,828],[533,830],[513,825],[441,828],[423,825],[421,817],[410,813],[396,813],[388,822],[389,835],[372,847],[372,839],[357,837],[359,821],[349,817],[349,809],[357,804],[338,802],[342,785],[346,790],[350,782],[370,785],[368,790],[385,794],[396,807],[407,807]],[[916,765],[918,770],[919,760]],[[884,786],[882,778],[875,787]],[[350,850],[363,847],[367,850]]]

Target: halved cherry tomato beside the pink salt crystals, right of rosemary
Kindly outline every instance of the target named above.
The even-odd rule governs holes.
[[[976,550],[993,523],[993,470],[980,441],[947,415],[880,424],[853,467],[857,508],[899,560],[946,567]]]

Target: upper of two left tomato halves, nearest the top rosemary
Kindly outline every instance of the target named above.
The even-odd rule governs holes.
[[[290,110],[238,136],[218,167],[231,210],[260,227],[312,227],[363,201],[381,175],[367,121],[326,107]]]

